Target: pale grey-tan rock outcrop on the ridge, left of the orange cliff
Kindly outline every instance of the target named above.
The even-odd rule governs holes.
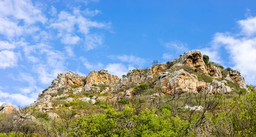
[[[57,78],[52,81],[52,86],[61,86],[61,85],[76,85],[84,86],[85,77],[75,74],[72,71],[59,73]]]

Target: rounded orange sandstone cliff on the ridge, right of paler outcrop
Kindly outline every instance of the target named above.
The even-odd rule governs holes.
[[[115,75],[111,75],[106,70],[100,70],[100,71],[91,71],[85,78],[86,84],[94,84],[96,82],[107,82],[116,84],[117,80],[119,78]]]

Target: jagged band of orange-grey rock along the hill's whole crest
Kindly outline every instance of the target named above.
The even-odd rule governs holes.
[[[189,67],[191,71],[180,69],[182,67]],[[223,71],[215,64],[205,65],[203,55],[198,50],[185,52],[175,60],[156,64],[148,69],[133,69],[120,79],[106,70],[91,71],[86,77],[68,71],[58,74],[57,78],[52,81],[52,85],[39,93],[38,99],[30,106],[46,112],[61,107],[61,104],[53,107],[52,100],[61,99],[66,103],[81,100],[94,104],[97,100],[128,99],[133,96],[134,86],[141,83],[150,83],[151,86],[162,88],[164,94],[152,94],[151,98],[184,92],[207,91],[210,94],[231,92],[233,88],[229,87],[226,80],[238,83],[241,88],[246,88],[244,77],[241,77],[239,71],[226,71],[225,77]],[[198,80],[194,72],[218,80],[207,83],[204,80]],[[80,92],[92,92],[98,95],[72,96]]]

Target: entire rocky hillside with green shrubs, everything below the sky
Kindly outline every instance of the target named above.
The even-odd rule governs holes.
[[[35,103],[0,107],[0,137],[254,137],[255,114],[239,71],[189,51],[120,79],[58,74]]]

